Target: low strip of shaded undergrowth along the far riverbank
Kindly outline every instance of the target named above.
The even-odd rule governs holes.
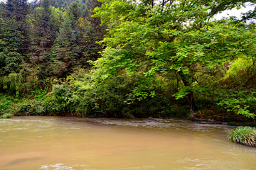
[[[157,101],[158,100],[158,101]],[[156,103],[159,102],[159,103]],[[81,118],[183,118],[188,119],[190,112],[186,101],[178,101],[169,104],[161,98],[151,99],[149,104],[140,103],[134,108],[123,108],[122,113],[107,113],[101,108],[92,109],[85,106],[75,108],[68,107],[70,103],[60,103],[56,96],[43,94],[40,92],[27,98],[14,98],[0,94],[0,115],[9,113],[11,115],[53,115],[53,116],[74,116]],[[254,123],[255,119],[225,111],[220,106],[207,106],[201,111],[194,113],[196,121],[217,121],[234,122],[237,125],[244,123]]]

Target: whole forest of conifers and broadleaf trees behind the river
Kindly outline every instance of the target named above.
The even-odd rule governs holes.
[[[255,0],[6,0],[0,115],[255,121]]]

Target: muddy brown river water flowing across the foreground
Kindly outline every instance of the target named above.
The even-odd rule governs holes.
[[[0,169],[256,169],[233,127],[179,119],[0,120]]]

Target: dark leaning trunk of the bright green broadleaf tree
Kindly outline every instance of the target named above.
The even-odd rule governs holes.
[[[190,86],[190,82],[188,81],[188,78],[186,77],[186,75],[183,74],[183,72],[181,71],[178,72],[178,74],[181,77],[183,84],[185,86]],[[196,101],[193,97],[193,91],[188,91],[187,97],[188,97],[188,106],[191,110],[191,115],[193,115],[193,111],[196,111],[198,109],[198,106],[196,106]]]

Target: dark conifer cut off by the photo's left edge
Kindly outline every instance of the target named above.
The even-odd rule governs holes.
[[[8,0],[1,6],[0,19],[0,85],[10,89],[9,74],[17,74],[28,46],[25,17],[28,13],[27,0]]]

